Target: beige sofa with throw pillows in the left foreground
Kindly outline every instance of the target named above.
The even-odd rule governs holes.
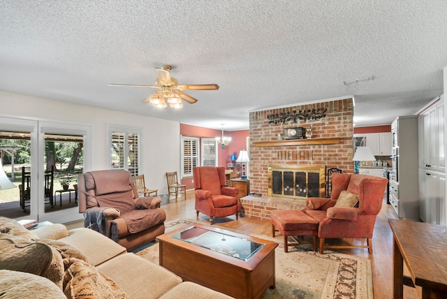
[[[0,217],[1,298],[230,298],[182,279],[89,228],[33,231]]]

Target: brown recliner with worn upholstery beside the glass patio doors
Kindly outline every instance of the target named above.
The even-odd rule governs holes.
[[[128,250],[165,232],[161,198],[139,198],[128,171],[97,170],[78,175],[78,196],[84,226]]]

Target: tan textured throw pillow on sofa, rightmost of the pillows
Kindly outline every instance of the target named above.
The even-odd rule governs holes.
[[[64,268],[64,294],[68,299],[130,298],[112,279],[85,261],[64,258]]]

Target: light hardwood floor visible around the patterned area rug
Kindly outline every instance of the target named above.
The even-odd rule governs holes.
[[[170,203],[162,205],[163,210],[166,211],[166,221],[187,218],[196,219],[196,210],[194,210],[194,194],[193,191],[186,193],[185,200],[170,200]],[[393,233],[388,225],[388,218],[397,219],[393,208],[386,203],[379,216],[376,219],[376,226],[374,228],[373,237],[373,254],[368,254],[367,249],[334,249],[334,251],[350,254],[353,256],[360,256],[362,258],[369,258],[372,264],[372,279],[374,286],[375,299],[393,298]],[[209,218],[204,214],[199,214],[199,219],[208,221]],[[226,228],[237,229],[241,232],[255,233],[257,235],[272,236],[272,226],[270,221],[263,221],[253,218],[239,218],[223,217],[214,219],[214,224],[224,226]],[[68,229],[82,226],[82,221],[72,224],[66,224]],[[361,242],[360,240],[351,239],[333,239],[328,240],[330,244],[355,244]],[[366,242],[366,241],[365,241]],[[413,289],[409,286],[404,286],[404,298],[413,299],[420,298],[420,289]]]

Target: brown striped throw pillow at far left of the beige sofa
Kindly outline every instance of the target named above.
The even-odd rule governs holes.
[[[56,249],[42,242],[11,236],[0,238],[0,269],[46,277],[62,289],[62,257]]]

